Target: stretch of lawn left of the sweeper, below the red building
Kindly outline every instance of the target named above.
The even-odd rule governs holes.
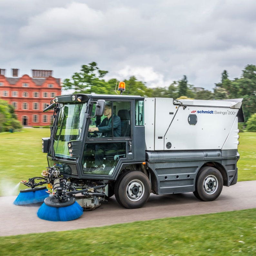
[[[42,139],[50,136],[49,129],[27,128],[22,132],[0,133],[0,195],[17,193],[12,188],[21,180],[41,176],[48,166],[46,153],[42,153]],[[20,184],[20,188],[26,188]]]

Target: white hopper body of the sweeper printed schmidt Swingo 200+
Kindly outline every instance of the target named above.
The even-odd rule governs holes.
[[[174,102],[179,105],[170,98],[145,99],[146,150],[237,149],[241,102]],[[189,123],[190,115],[195,124]]]

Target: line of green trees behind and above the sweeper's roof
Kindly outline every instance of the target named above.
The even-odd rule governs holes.
[[[104,76],[107,73],[108,71],[99,69],[96,62],[82,65],[81,70],[74,73],[71,79],[64,79],[63,88],[66,90],[73,89],[76,93],[115,94],[115,84],[118,81],[116,78],[106,81]],[[189,84],[186,75],[169,86],[157,88],[148,88],[146,83],[138,81],[135,76],[123,81],[126,84],[126,91],[123,94],[198,100],[243,98],[242,108],[245,122],[256,113],[255,65],[246,65],[242,70],[241,77],[233,80],[229,79],[227,70],[224,70],[221,74],[221,82],[214,84],[213,92]]]

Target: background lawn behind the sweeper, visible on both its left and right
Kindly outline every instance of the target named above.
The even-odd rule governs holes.
[[[0,158],[0,195],[15,195],[12,190],[21,180],[41,176],[47,166],[46,153],[42,153],[43,137],[49,129],[27,128],[22,132],[0,133],[2,156]],[[256,133],[240,133],[238,181],[256,180]],[[6,190],[8,187],[8,190]],[[20,189],[26,188],[20,184]]]

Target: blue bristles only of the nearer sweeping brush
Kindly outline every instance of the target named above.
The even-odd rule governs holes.
[[[52,207],[43,203],[37,216],[46,221],[72,221],[83,214],[83,208],[77,203],[64,207]]]

